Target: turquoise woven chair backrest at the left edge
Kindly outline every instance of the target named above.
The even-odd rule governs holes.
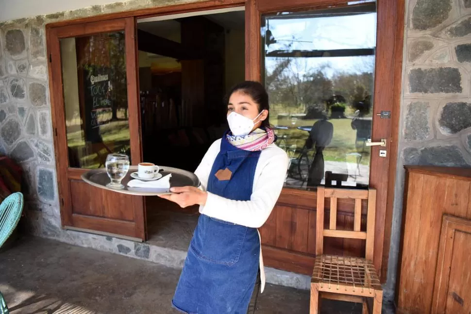
[[[23,211],[23,194],[13,193],[0,204],[0,248],[17,227]]]

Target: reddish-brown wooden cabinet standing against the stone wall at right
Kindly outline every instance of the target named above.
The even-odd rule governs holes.
[[[439,257],[439,244],[444,214],[471,219],[471,169],[407,166],[396,287],[397,313],[469,313],[463,307],[458,312],[445,312],[443,308],[441,312],[431,312],[437,261],[443,258]],[[470,290],[463,284],[466,284],[464,278],[471,276],[471,267],[465,264],[469,260],[465,256],[471,254],[471,236],[460,234],[459,237],[454,239],[454,244],[459,244],[461,248],[452,252],[455,258],[449,261],[453,265],[447,275],[449,278],[439,281],[455,284],[456,296],[451,298],[469,302]],[[455,276],[463,280],[454,280]]]

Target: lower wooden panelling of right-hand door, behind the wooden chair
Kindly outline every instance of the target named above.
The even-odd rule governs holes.
[[[315,191],[283,189],[273,212],[260,228],[263,260],[269,267],[311,275],[316,254]],[[353,231],[353,199],[338,199],[337,229]],[[326,201],[326,208],[330,202]],[[326,211],[324,225],[330,215]],[[366,230],[367,202],[362,202],[361,230]],[[328,238],[324,253],[345,256],[365,256],[365,241],[359,239]]]

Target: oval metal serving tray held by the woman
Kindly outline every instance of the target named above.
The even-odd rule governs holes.
[[[160,169],[163,169],[163,171],[160,172],[162,176],[166,176],[169,173],[172,174],[172,177],[170,178],[171,187],[188,186],[188,185],[194,186],[194,187],[200,186],[200,180],[192,172],[178,169],[178,168],[166,167],[166,166],[159,166],[159,167]],[[133,178],[131,178],[131,173],[135,171],[137,171],[137,166],[132,165],[129,167],[128,173],[126,174],[124,179],[121,181],[121,183],[124,185],[124,188],[122,189],[113,189],[106,186],[106,184],[110,183],[110,178],[108,177],[108,174],[106,173],[105,168],[99,168],[99,169],[93,169],[93,170],[87,171],[86,173],[82,175],[82,180],[84,180],[90,185],[99,187],[101,189],[123,193],[123,194],[142,195],[142,196],[171,194],[171,192],[168,189],[129,187],[127,185],[128,182],[133,180]]]

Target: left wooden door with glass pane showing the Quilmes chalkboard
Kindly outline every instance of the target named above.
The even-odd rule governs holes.
[[[50,99],[64,228],[145,240],[143,197],[90,186],[108,153],[141,162],[135,18],[47,30]]]

